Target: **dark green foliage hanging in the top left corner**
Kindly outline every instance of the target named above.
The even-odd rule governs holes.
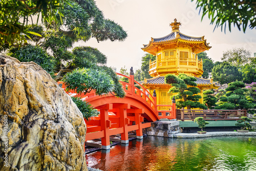
[[[20,46],[27,42],[29,34],[28,22],[34,23],[33,15],[39,14],[42,23],[56,21],[58,9],[63,7],[66,0],[38,0],[38,1],[16,1],[2,0],[0,3],[0,46],[4,44]],[[33,33],[37,36],[36,32]]]

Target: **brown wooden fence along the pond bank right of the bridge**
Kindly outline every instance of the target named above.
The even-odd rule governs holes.
[[[246,110],[184,110],[177,109],[177,120],[194,120],[196,117],[203,117],[204,120],[239,120],[246,116]]]

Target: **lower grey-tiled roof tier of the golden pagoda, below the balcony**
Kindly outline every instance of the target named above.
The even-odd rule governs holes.
[[[199,78],[195,77],[197,80],[195,81],[198,86],[216,86],[220,87],[220,84],[218,82],[211,81],[211,79],[204,79],[204,78]],[[164,83],[164,77],[163,76],[158,76],[155,78],[150,78],[150,79],[145,79],[144,81],[140,81],[140,83],[143,84],[166,84]]]

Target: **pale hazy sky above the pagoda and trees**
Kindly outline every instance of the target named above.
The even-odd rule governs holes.
[[[121,67],[134,71],[140,69],[141,58],[146,52],[141,50],[153,38],[163,37],[172,32],[170,23],[181,23],[180,32],[189,36],[205,36],[212,47],[205,51],[214,61],[221,61],[224,51],[232,48],[245,48],[256,53],[256,30],[247,27],[246,32],[237,27],[226,33],[221,28],[210,25],[207,16],[201,21],[202,14],[196,9],[196,3],[188,0],[96,0],[105,18],[114,20],[127,32],[124,41],[101,41],[91,38],[87,42],[78,42],[75,46],[91,46],[97,48],[108,57],[107,66]]]

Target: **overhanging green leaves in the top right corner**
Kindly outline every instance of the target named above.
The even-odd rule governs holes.
[[[194,1],[194,0],[192,0]],[[256,27],[256,10],[255,1],[239,1],[239,0],[197,0],[197,8],[202,11],[202,19],[208,13],[210,24],[216,22],[216,27],[224,28],[226,25],[231,31],[231,25],[237,26],[239,30],[245,32],[247,25],[250,29]]]

